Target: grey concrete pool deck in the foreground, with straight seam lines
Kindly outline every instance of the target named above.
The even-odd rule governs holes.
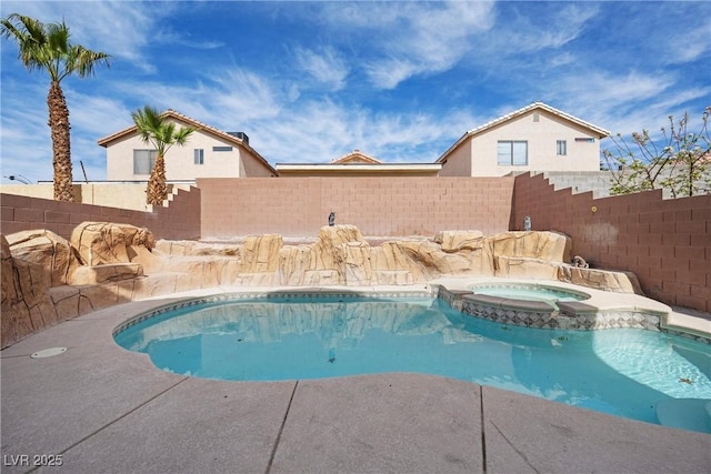
[[[238,290],[274,289],[223,292]],[[133,314],[218,292],[97,311],[3,350],[2,472],[52,456],[62,465],[38,472],[711,472],[708,434],[420,374],[191,379],[112,340]]]

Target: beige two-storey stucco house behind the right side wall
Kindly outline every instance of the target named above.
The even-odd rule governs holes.
[[[464,133],[438,160],[440,177],[502,177],[527,171],[599,171],[609,131],[543,102]]]

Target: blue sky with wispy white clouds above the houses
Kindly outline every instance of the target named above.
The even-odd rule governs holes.
[[[62,82],[77,180],[80,161],[106,179],[97,140],[146,104],[243,131],[272,165],[353,149],[433,162],[534,101],[623,135],[684,112],[698,124],[711,105],[711,2],[26,0],[0,12],[63,18],[74,43],[112,56]],[[48,75],[12,41],[0,48],[2,182],[49,181]]]

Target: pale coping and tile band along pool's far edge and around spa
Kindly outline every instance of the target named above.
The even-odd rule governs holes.
[[[509,285],[539,285],[558,288],[589,297],[583,301],[558,302],[558,307],[547,302],[515,300],[510,297],[475,294],[471,288],[480,284],[505,283]],[[594,331],[605,329],[643,329],[663,331],[681,337],[711,344],[711,321],[681,315],[671,306],[633,293],[601,291],[558,281],[461,278],[440,279],[428,285],[412,286],[277,286],[277,288],[222,288],[219,293],[204,290],[187,292],[194,297],[184,297],[150,312],[140,313],[117,326],[118,332],[167,311],[196,304],[266,297],[404,297],[429,296],[444,300],[457,311],[507,325],[532,329]]]

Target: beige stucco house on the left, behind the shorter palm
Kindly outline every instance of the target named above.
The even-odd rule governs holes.
[[[168,110],[163,117],[196,131],[183,147],[172,147],[166,157],[168,181],[197,178],[268,178],[279,173],[249,145],[241,132],[223,132],[187,115]],[[147,181],[156,151],[143,142],[137,127],[129,127],[98,142],[107,149],[108,181]]]

